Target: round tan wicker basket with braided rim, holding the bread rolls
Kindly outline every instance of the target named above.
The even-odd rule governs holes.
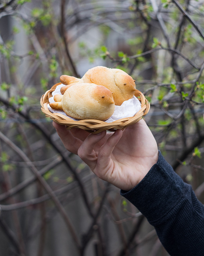
[[[135,116],[121,118],[112,123],[106,123],[104,121],[99,121],[95,119],[84,119],[79,121],[74,121],[68,116],[58,113],[51,113],[47,108],[47,104],[49,103],[49,98],[52,97],[52,92],[55,91],[57,85],[61,83],[55,84],[52,86],[50,90],[48,90],[44,95],[42,95],[40,99],[40,105],[42,112],[46,115],[46,117],[50,117],[53,121],[58,124],[63,124],[67,126],[67,129],[70,130],[73,127],[80,128],[86,130],[90,133],[98,133],[105,130],[114,132],[117,129],[124,129],[126,126],[131,124],[135,124],[142,116],[145,116],[149,112],[149,101],[145,99],[142,92],[136,90],[135,97],[139,97],[138,100],[141,102],[141,109],[135,114]]]

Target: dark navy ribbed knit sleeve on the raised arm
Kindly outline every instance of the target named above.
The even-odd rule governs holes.
[[[171,256],[204,255],[204,206],[161,152],[144,179],[120,193],[155,227]]]

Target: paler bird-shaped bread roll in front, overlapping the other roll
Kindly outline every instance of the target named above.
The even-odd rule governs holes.
[[[112,92],[97,84],[73,84],[63,95],[56,94],[54,100],[49,104],[51,108],[63,110],[67,116],[79,120],[105,121],[115,110]]]

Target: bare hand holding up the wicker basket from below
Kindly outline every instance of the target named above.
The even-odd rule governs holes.
[[[65,148],[80,156],[102,180],[123,190],[134,188],[157,163],[157,143],[142,119],[123,131],[90,134],[53,122]]]

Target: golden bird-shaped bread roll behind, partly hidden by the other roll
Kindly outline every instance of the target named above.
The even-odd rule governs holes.
[[[115,105],[118,106],[120,106],[123,101],[131,99],[136,90],[135,80],[125,71],[103,66],[89,69],[81,79],[74,76],[62,75],[60,81],[62,84],[66,85],[61,88],[62,94],[64,94],[71,84],[93,83],[103,85],[113,92]]]

